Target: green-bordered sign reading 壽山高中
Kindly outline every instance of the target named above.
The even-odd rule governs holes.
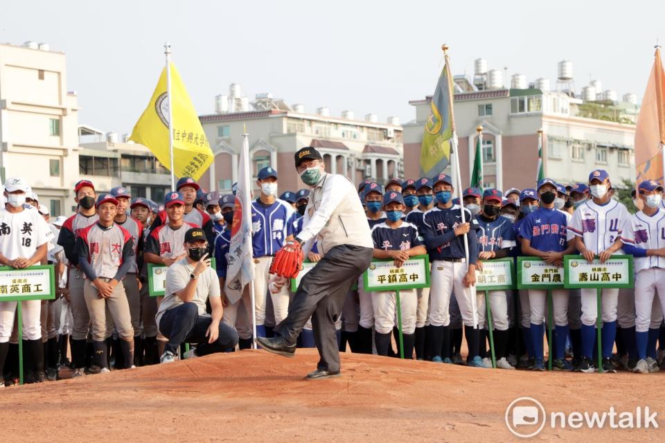
[[[632,255],[612,255],[605,263],[589,263],[582,255],[566,255],[567,288],[632,288]]]

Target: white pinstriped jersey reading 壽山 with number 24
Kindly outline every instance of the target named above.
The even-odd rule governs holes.
[[[612,246],[623,232],[623,226],[630,219],[626,206],[616,200],[598,205],[587,200],[575,210],[568,224],[568,230],[582,237],[584,245],[594,254],[601,253]],[[615,252],[622,254],[623,251]]]

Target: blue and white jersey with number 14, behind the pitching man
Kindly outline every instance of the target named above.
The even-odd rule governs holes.
[[[251,245],[254,257],[275,255],[280,250],[285,238],[293,235],[294,213],[293,207],[281,199],[269,205],[259,199],[251,202]]]

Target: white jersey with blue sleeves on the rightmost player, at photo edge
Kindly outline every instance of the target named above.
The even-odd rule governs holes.
[[[621,242],[641,249],[665,248],[665,209],[659,208],[651,216],[641,211],[631,215],[623,226]],[[635,273],[651,268],[665,269],[665,258],[657,255],[635,257]]]

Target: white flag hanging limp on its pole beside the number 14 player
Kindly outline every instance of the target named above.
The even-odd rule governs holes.
[[[251,262],[251,188],[249,184],[249,136],[242,134],[242,152],[238,163],[236,207],[233,210],[231,245],[229,246],[226,291],[229,302],[242,297],[242,289],[254,280]],[[249,314],[249,313],[248,313]]]

